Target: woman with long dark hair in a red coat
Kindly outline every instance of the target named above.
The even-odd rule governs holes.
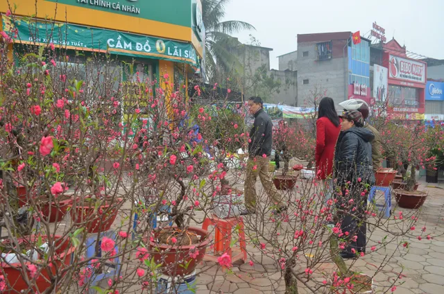
[[[333,99],[322,98],[316,121],[316,174],[318,180],[332,178],[334,148],[341,132],[341,121],[334,109]]]

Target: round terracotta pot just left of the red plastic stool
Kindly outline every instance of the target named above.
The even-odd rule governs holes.
[[[162,264],[160,270],[162,270],[164,275],[171,275],[171,273],[175,276],[189,275],[194,272],[196,266],[203,260],[208,243],[210,243],[210,233],[199,227],[189,227],[187,231],[194,232],[198,236],[201,236],[200,238],[202,242],[189,246],[172,246],[167,244],[156,244],[151,241],[149,242],[149,250],[154,257],[155,262]],[[156,234],[159,234],[160,232],[161,230],[155,231],[155,238],[157,236]],[[194,248],[199,252],[195,259],[189,255],[190,250]],[[178,261],[182,261],[182,263],[178,263]],[[187,268],[185,268],[185,264],[188,264]]]

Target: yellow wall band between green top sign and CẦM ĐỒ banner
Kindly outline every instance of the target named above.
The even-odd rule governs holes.
[[[10,0],[10,3],[12,8],[14,4],[17,5],[17,10],[12,9],[15,15],[35,15],[35,0]],[[0,0],[0,12],[6,12],[9,8],[6,0]],[[192,29],[185,26],[42,0],[37,0],[37,17],[187,42],[192,41],[193,35]]]

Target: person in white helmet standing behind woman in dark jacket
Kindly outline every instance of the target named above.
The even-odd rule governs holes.
[[[357,110],[361,112],[362,117],[365,119],[368,118],[369,107],[366,101],[361,99],[349,99],[339,103],[344,109],[344,112],[350,110]],[[370,126],[369,123],[364,121],[364,128],[367,128],[373,135],[375,135],[375,139],[371,142],[372,144],[372,162],[373,162],[373,172],[376,171],[382,166],[382,155],[381,155],[381,135],[379,132],[373,127]]]

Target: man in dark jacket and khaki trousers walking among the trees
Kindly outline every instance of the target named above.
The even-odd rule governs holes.
[[[268,174],[271,144],[273,143],[273,123],[262,109],[262,105],[260,97],[251,97],[248,100],[249,111],[255,116],[255,123],[253,123],[248,139],[248,162],[244,188],[247,211],[244,214],[252,214],[256,211],[257,175],[259,175],[268,197],[273,201],[272,205],[277,207],[275,212],[279,213],[285,208],[281,203],[281,196]]]

